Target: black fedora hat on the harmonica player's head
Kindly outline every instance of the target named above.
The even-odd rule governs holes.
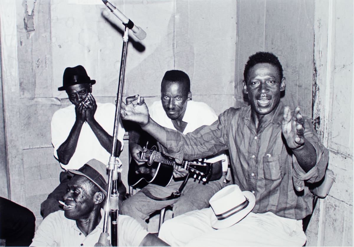
[[[90,83],[95,84],[95,80],[91,80],[87,75],[86,70],[81,65],[76,67],[68,67],[64,70],[63,74],[63,86],[58,87],[58,91],[64,91],[68,86],[73,86],[76,84]]]

